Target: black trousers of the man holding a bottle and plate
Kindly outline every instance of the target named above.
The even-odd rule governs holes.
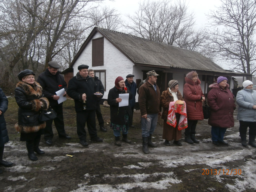
[[[90,137],[96,138],[95,110],[77,112],[77,135],[80,141],[86,140],[86,131],[84,129],[86,123]]]

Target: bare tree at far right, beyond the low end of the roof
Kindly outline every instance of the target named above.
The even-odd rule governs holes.
[[[254,74],[256,71],[256,0],[221,0],[208,17],[211,49],[230,69]],[[250,79],[250,77],[247,77]]]

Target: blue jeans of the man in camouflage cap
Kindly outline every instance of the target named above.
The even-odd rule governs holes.
[[[148,137],[149,134],[154,133],[157,125],[158,113],[147,114],[147,119],[141,118],[142,136]]]

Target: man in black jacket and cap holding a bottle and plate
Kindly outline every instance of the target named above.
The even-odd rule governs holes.
[[[98,91],[97,85],[93,78],[88,75],[88,65],[79,65],[76,76],[68,82],[68,95],[75,102],[75,110],[77,113],[77,134],[82,146],[87,146],[86,131],[84,129],[87,123],[87,128],[91,141],[102,142],[96,130],[95,110],[96,103],[102,96],[94,95]]]

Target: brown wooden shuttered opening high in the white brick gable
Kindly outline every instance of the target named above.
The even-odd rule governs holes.
[[[104,65],[104,38],[92,39],[92,67]]]

